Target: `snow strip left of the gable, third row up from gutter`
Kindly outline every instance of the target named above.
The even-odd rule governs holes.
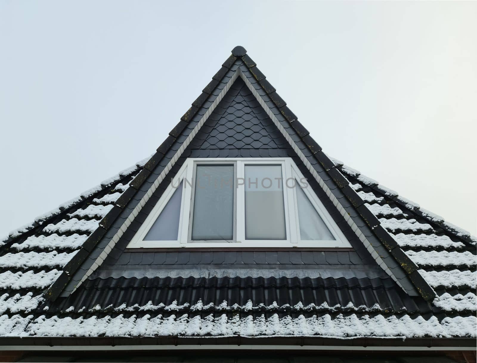
[[[48,272],[11,272],[5,271],[0,273],[0,289],[29,289],[37,288],[44,289],[45,287],[50,286],[58,276],[60,276],[61,271],[51,270]]]

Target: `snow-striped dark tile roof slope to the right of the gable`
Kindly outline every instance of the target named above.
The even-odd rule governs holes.
[[[476,311],[474,238],[417,203],[398,196],[394,190],[375,185],[360,172],[348,166],[341,170],[352,185],[358,184],[353,188],[360,190],[358,195],[368,202],[365,206],[418,266],[419,274],[438,289],[434,305],[445,311]]]

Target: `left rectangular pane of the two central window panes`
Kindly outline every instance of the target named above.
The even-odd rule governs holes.
[[[233,165],[197,165],[193,240],[234,238],[233,178]]]

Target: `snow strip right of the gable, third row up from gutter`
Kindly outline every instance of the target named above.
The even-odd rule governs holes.
[[[432,287],[459,288],[469,287],[475,289],[477,287],[477,271],[425,271],[419,270],[421,276]]]

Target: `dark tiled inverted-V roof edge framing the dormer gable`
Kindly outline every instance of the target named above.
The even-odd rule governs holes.
[[[116,242],[127,232],[146,201],[153,195],[154,189],[159,187],[171,170],[176,168],[176,162],[180,157],[184,157],[182,154],[187,145],[194,139],[238,77],[259,101],[376,262],[411,295],[417,290],[426,300],[432,299],[435,296],[434,291],[416,271],[415,264],[363,205],[363,199],[350,187],[348,180],[296,120],[296,116],[288,109],[242,47],[234,48],[233,54],[170,132],[166,141],[159,146],[156,154],[145,163],[141,172],[115,200],[114,208],[104,216],[104,222],[92,231],[87,248],[83,248],[81,253],[74,256],[69,263],[68,271],[53,279],[54,282],[45,296],[55,299],[63,290],[64,294],[68,295],[101,265]],[[207,150],[210,155],[216,156],[224,151],[224,149]],[[249,156],[259,156],[258,149],[242,150],[247,151]],[[11,244],[14,240],[13,238],[7,243]]]

